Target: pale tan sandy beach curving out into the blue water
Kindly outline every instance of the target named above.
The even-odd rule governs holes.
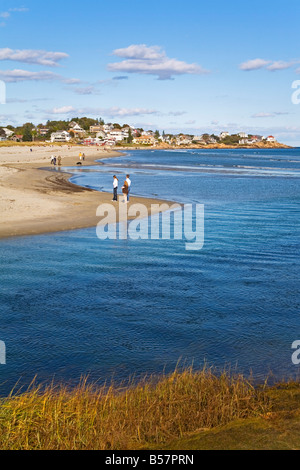
[[[50,165],[51,155],[61,155],[62,166],[75,166],[79,152],[85,153],[84,166],[122,155],[81,146],[33,147],[32,152],[30,147],[0,148],[0,238],[74,230],[99,223],[97,207],[111,202],[112,194],[74,185],[69,182],[70,174]],[[151,204],[158,202],[165,201],[132,197],[130,204],[143,203],[150,210]]]

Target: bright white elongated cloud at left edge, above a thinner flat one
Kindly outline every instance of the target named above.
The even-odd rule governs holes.
[[[57,67],[59,61],[68,57],[69,55],[65,52],[47,52],[42,50],[31,49],[0,49],[0,60],[25,62],[27,64],[38,64],[45,65],[48,67]]]

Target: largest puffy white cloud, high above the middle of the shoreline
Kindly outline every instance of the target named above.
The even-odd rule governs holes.
[[[113,54],[126,60],[108,64],[111,72],[157,75],[159,80],[170,80],[174,75],[208,73],[198,64],[170,59],[159,46],[131,45],[116,49]]]

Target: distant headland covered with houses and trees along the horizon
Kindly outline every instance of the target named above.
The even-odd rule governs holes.
[[[105,123],[102,118],[73,118],[67,121],[47,121],[34,125],[27,122],[19,127],[0,127],[0,142],[68,143],[123,148],[289,148],[273,135],[253,135],[246,132],[221,132],[219,135],[145,130],[129,124]]]

